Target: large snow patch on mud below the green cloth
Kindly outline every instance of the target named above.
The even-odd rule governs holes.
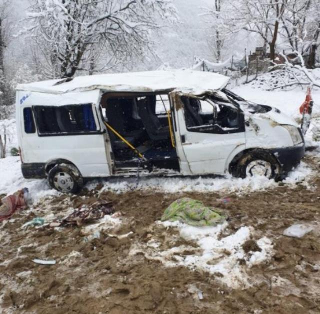
[[[180,222],[157,222],[157,225],[176,228],[180,237],[196,246],[182,244],[166,248],[161,238],[151,238],[146,243],[134,244],[129,256],[142,253],[147,259],[160,261],[165,267],[184,266],[192,271],[208,272],[229,288],[253,286],[254,279],[246,274],[246,269],[269,262],[273,254],[272,242],[266,237],[256,242],[260,251],[244,252],[243,244],[254,234],[252,227],[243,226],[235,233],[221,237],[227,222],[214,227],[193,227]],[[168,234],[164,236],[168,237]]]

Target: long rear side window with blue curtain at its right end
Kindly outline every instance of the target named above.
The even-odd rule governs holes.
[[[34,106],[39,134],[78,134],[95,132],[91,104]]]

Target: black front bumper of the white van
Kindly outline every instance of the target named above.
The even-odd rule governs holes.
[[[304,143],[291,146],[271,149],[270,152],[277,158],[281,165],[281,176],[286,176],[289,171],[295,168],[305,153]]]

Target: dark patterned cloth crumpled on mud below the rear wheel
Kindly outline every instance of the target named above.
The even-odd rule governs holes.
[[[49,224],[50,227],[61,226],[82,226],[103,218],[105,215],[114,213],[111,202],[96,201],[89,207],[81,207],[74,210],[70,215],[61,220],[56,220]]]

